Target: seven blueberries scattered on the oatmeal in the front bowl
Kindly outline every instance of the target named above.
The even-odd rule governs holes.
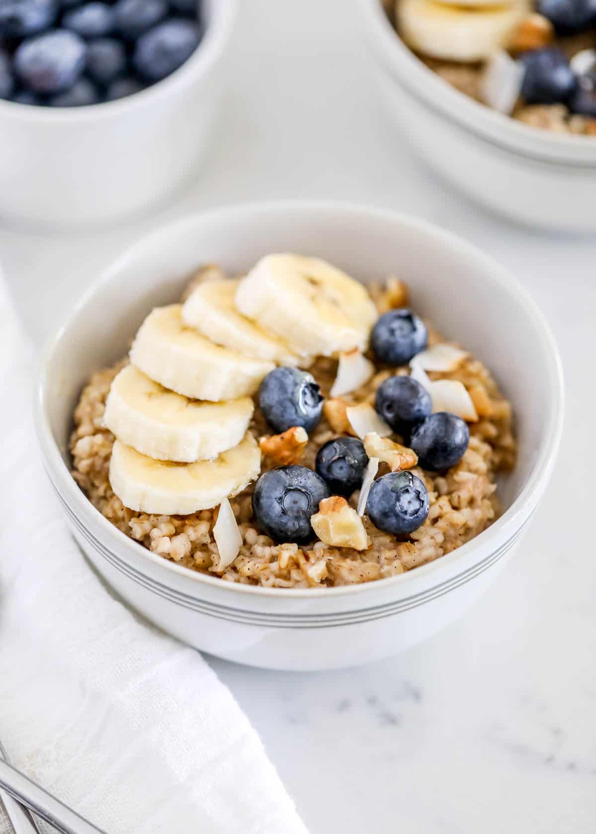
[[[372,331],[371,347],[383,364],[398,367],[427,346],[427,329],[409,309],[383,314]],[[260,410],[275,432],[292,426],[313,430],[321,419],[323,397],[312,374],[276,368],[260,385]],[[410,376],[391,376],[376,391],[375,409],[417,453],[423,469],[444,471],[467,450],[470,432],[456,414],[432,414],[430,394]],[[314,538],[311,516],[331,495],[350,498],[362,485],[368,457],[361,440],[337,437],[316,455],[316,471],[281,466],[260,475],[252,498],[260,529],[277,542],[306,545]],[[372,523],[393,535],[408,535],[427,518],[428,493],[412,472],[381,475],[368,494]]]

